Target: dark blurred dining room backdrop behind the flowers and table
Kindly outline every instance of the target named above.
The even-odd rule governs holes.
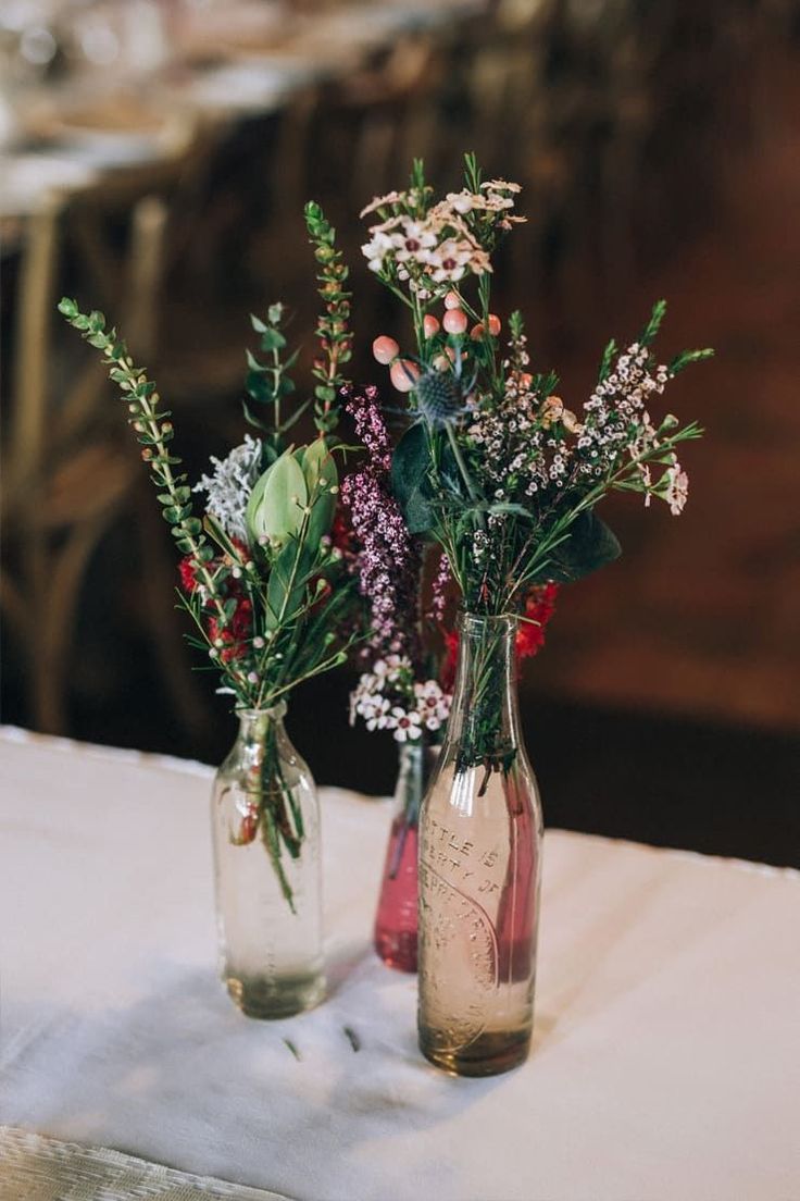
[[[462,151],[524,186],[497,310],[528,315],[577,408],[654,299],[698,418],[686,513],[620,497],[622,558],[561,593],[524,722],[551,825],[800,865],[798,0],[2,0],[2,719],[219,761],[172,539],[124,413],[55,313],[126,333],[199,474],[241,441],[247,315],[283,299],[311,348],[302,226],[353,268],[355,378],[399,333],[357,214]],[[323,783],[386,793],[390,737],[345,674],[290,731]]]

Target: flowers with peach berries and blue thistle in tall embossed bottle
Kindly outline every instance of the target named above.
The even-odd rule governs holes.
[[[492,311],[492,255],[524,220],[513,213],[519,191],[483,180],[467,155],[463,189],[435,199],[416,162],[405,191],[363,210],[373,223],[362,249],[414,330],[413,349],[385,335],[373,342],[408,402],[410,424],[389,468],[408,536],[441,548],[467,611],[516,616],[523,631],[535,626],[536,641],[554,587],[620,552],[595,513],[604,496],[633,491],[645,504],[656,497],[673,514],[682,510],[688,482],[676,448],[702,430],[672,414],[652,418],[650,408],[684,368],[712,352],[658,363],[652,345],[666,312],[658,301],[626,349],[607,345],[579,413],[567,408],[557,376],[531,369],[522,315],[511,313],[503,337]],[[462,765],[495,770],[505,760],[491,647],[485,658]]]

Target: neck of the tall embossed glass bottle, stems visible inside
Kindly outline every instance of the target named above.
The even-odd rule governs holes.
[[[521,745],[516,617],[465,613],[458,623],[458,665],[444,754],[457,770],[511,765]]]

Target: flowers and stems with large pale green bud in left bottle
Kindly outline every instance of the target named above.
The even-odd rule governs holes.
[[[348,620],[355,585],[331,539],[339,502],[335,431],[347,382],[342,369],[351,354],[348,271],[319,205],[307,205],[306,225],[323,299],[313,401],[294,401],[290,370],[297,352],[285,353],[284,311],[273,304],[265,319],[252,317],[260,355],[247,351],[245,417],[257,435],[246,435],[224,459],[212,459],[211,472],[193,488],[173,452],[170,413],[116,330],[107,328],[101,312],[80,312],[74,300],[59,305],[101,352],[127,404],[182,556],[178,594],[194,626],[190,641],[207,657],[207,669],[219,675],[218,691],[231,695],[237,710],[272,710],[302,681],[344,663],[357,638]],[[290,430],[312,404],[317,437],[296,446]],[[197,492],[205,498],[199,515]],[[271,731],[275,739],[275,727]],[[276,763],[267,745],[233,841],[247,844],[260,833],[291,904],[283,856],[300,855],[305,831]]]

